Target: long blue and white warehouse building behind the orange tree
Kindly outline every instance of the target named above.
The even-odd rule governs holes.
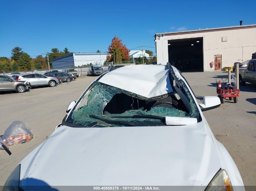
[[[67,56],[62,56],[52,60],[52,68],[64,69],[71,68],[71,66],[81,66],[87,64],[103,65],[107,59],[108,53],[72,53]]]

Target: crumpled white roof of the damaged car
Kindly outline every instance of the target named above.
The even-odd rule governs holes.
[[[164,65],[128,65],[107,72],[98,81],[147,98],[173,92]]]

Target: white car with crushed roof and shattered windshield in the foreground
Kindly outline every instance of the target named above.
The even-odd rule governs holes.
[[[62,123],[18,164],[4,190],[139,185],[244,190],[238,168],[202,113],[220,104],[218,97],[198,104],[169,64],[106,72],[70,102]]]

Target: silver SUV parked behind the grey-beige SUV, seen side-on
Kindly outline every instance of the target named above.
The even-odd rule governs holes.
[[[45,86],[45,85],[54,87],[56,84],[58,85],[60,83],[60,81],[57,78],[53,78],[53,77],[49,77],[49,76],[45,76],[37,73],[17,75],[15,76],[14,80],[28,81],[31,87]]]

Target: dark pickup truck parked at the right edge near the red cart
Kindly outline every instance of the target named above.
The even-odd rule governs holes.
[[[247,68],[239,68],[239,85],[245,85],[245,82],[256,84],[256,59],[250,60]]]

